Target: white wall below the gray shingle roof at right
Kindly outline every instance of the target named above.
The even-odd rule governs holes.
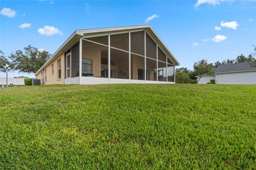
[[[256,84],[256,71],[217,74],[217,84]]]

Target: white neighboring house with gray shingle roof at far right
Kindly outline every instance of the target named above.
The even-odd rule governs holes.
[[[256,66],[253,63],[222,64],[214,68],[211,77],[203,75],[198,84],[215,79],[216,84],[256,84]]]

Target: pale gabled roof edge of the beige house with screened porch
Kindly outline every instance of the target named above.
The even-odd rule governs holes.
[[[76,30],[69,38],[59,47],[59,49],[52,55],[52,57],[36,72],[36,75],[44,69],[51,61],[55,60],[63,52],[66,52],[71,46],[73,46],[80,38],[86,35],[93,35],[98,33],[111,33],[118,31],[134,31],[134,30],[146,30],[147,33],[153,38],[156,44],[163,50],[163,52],[170,58],[174,65],[180,65],[174,55],[165,46],[163,41],[158,37],[156,32],[151,28],[150,25],[137,25],[129,27],[112,27],[112,28],[100,28],[100,29],[84,29]]]

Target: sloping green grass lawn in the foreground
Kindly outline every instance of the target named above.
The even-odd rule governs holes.
[[[256,86],[0,91],[0,169],[256,169]]]

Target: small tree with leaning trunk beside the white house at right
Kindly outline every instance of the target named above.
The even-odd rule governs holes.
[[[200,60],[194,64],[194,73],[198,76],[198,81],[202,78],[203,74],[213,75],[212,64],[207,63],[207,60]]]

